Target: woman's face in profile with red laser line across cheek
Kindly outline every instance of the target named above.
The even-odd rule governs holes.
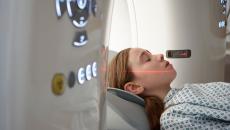
[[[130,50],[128,66],[134,75],[134,82],[149,92],[169,88],[176,77],[173,65],[164,60],[163,54],[151,54],[141,48]]]

